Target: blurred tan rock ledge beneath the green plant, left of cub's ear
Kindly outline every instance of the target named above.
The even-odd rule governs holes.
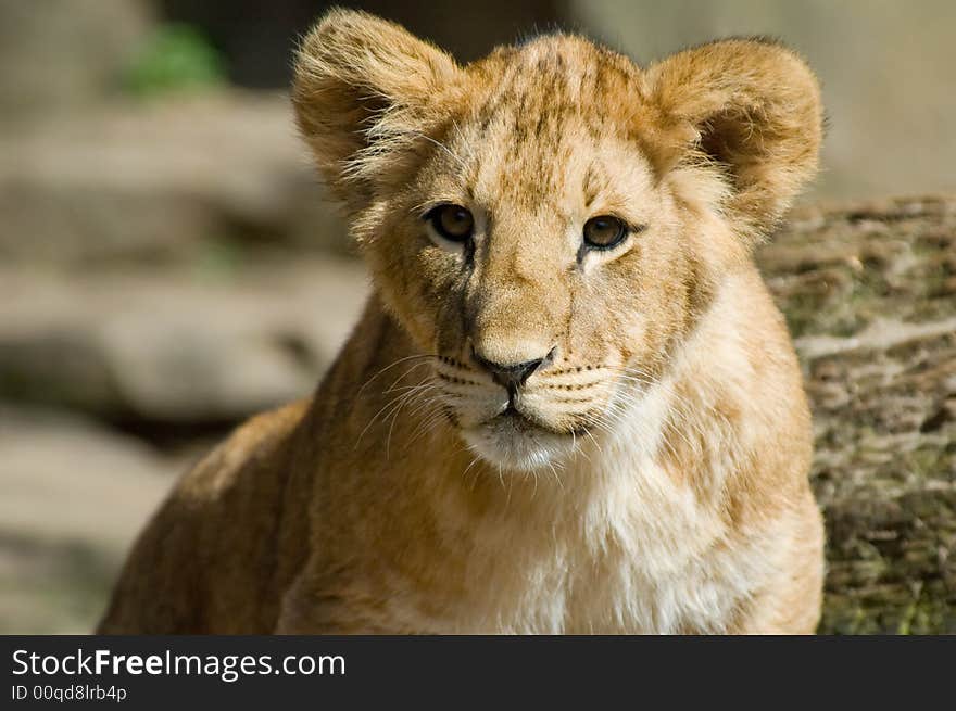
[[[196,258],[210,244],[348,253],[278,93],[49,114],[0,135],[0,259]]]

